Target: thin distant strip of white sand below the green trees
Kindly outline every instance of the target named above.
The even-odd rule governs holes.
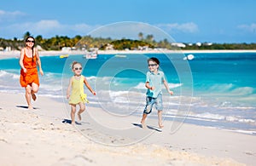
[[[212,49],[212,50],[98,50],[98,54],[160,54],[160,53],[179,53],[179,54],[194,54],[194,53],[256,53],[254,49]],[[40,56],[52,56],[61,54],[85,54],[84,51],[38,51]],[[0,51],[0,60],[9,58],[19,58],[20,51]]]

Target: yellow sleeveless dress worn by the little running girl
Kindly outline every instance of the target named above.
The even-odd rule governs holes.
[[[72,93],[70,96],[69,104],[79,104],[80,102],[89,102],[87,100],[87,95],[84,94],[84,76],[81,76],[80,79],[72,77]]]

